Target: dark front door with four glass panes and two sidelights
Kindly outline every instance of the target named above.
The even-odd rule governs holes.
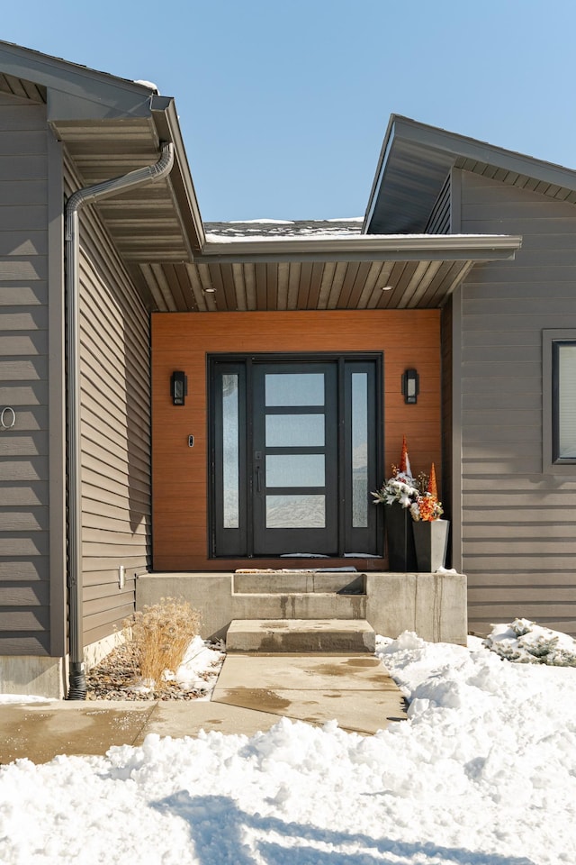
[[[211,556],[380,554],[382,355],[212,357]]]

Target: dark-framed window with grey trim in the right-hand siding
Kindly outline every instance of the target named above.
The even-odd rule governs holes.
[[[543,332],[543,469],[576,473],[576,331]]]

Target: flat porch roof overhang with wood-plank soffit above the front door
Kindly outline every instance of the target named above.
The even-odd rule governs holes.
[[[521,237],[424,235],[207,242],[192,263],[143,266],[157,310],[435,308]]]

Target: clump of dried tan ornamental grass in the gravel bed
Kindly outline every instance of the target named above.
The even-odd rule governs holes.
[[[124,623],[131,628],[140,675],[159,686],[165,670],[175,673],[184,652],[200,628],[200,614],[182,599],[161,597],[159,604],[145,606]]]

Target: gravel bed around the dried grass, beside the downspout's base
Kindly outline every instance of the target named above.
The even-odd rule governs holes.
[[[214,669],[220,664],[216,663]],[[214,669],[205,674],[213,677]],[[204,678],[203,676],[201,678]],[[202,689],[184,690],[177,682],[162,682],[161,687],[141,689],[136,652],[130,642],[123,643],[86,673],[87,700],[196,700],[206,697]]]

